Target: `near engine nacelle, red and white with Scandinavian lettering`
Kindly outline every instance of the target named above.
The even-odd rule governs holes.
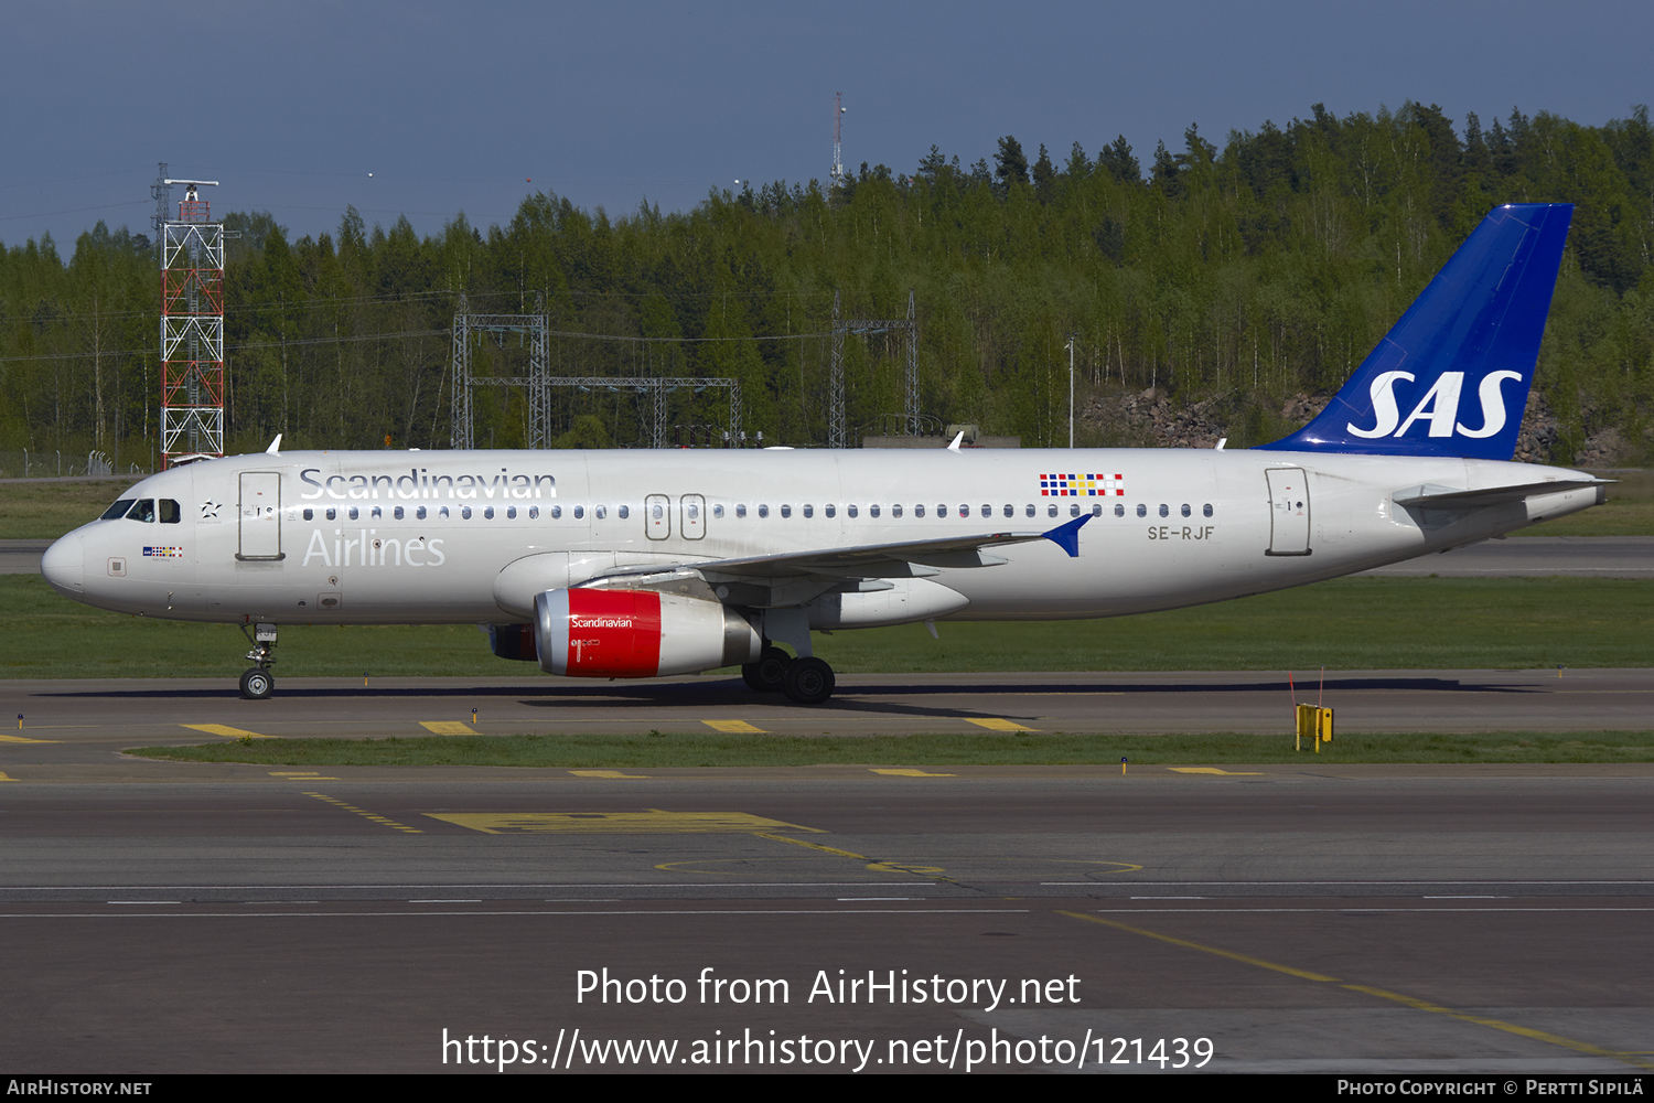
[[[539,666],[569,678],[655,678],[756,663],[762,638],[721,602],[658,590],[557,589],[534,599]]]

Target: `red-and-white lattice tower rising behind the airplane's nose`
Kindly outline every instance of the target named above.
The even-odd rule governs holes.
[[[185,189],[170,218],[172,185]],[[160,463],[223,455],[223,223],[197,189],[165,162],[151,187],[160,245]]]

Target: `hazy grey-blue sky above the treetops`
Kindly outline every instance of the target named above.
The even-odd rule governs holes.
[[[825,179],[835,91],[845,164],[896,172],[1002,134],[1057,160],[1125,134],[1146,164],[1189,122],[1222,144],[1313,103],[1596,126],[1654,101],[1651,41],[1646,2],[10,5],[0,241],[147,232],[159,160],[293,236],[347,203],[486,227],[541,189],[688,210]]]

